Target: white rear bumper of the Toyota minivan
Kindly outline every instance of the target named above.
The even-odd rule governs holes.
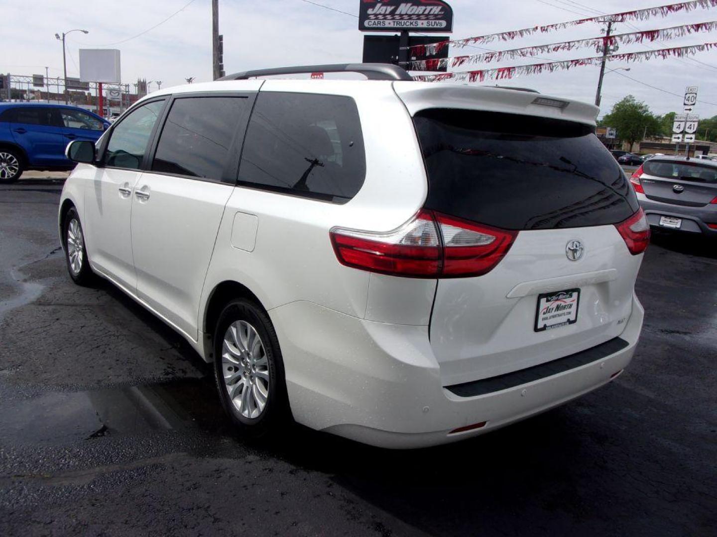
[[[461,397],[442,386],[427,326],[376,323],[295,302],[270,311],[295,420],[384,448],[422,448],[483,434],[609,382],[632,359],[644,310],[635,297],[620,338],[594,362],[503,390]],[[485,422],[465,432],[450,431]]]

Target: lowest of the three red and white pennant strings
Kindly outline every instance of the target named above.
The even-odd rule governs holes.
[[[689,47],[675,47],[673,49],[645,50],[642,52],[626,52],[625,54],[609,54],[605,57],[609,62],[642,62],[642,60],[670,57],[682,58],[697,52],[706,52],[717,47],[717,42],[690,45]],[[498,69],[479,69],[477,71],[460,71],[441,74],[424,74],[413,77],[419,82],[440,82],[441,80],[455,80],[455,82],[483,82],[484,80],[502,80],[526,74],[539,74],[559,70],[581,67],[583,65],[599,65],[602,56],[590,58],[566,59],[559,62],[544,62],[541,64],[516,65],[513,67],[498,67]]]

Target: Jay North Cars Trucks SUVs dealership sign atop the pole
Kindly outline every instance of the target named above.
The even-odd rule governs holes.
[[[452,32],[453,10],[443,0],[361,0],[361,32]]]

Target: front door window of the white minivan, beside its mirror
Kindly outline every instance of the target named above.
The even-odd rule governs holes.
[[[113,129],[105,153],[105,165],[132,170],[140,168],[163,106],[164,101],[149,102],[134,110]]]

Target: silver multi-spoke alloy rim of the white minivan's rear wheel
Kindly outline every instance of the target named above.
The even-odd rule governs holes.
[[[261,337],[247,321],[234,321],[224,334],[222,376],[237,412],[259,417],[269,396],[269,362]]]

